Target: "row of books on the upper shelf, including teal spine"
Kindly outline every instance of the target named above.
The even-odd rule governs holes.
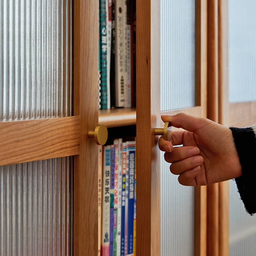
[[[136,0],[99,0],[99,109],[136,105]]]

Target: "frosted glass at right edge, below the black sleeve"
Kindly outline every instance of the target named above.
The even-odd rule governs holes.
[[[245,211],[234,180],[229,181],[229,255],[255,256],[256,215]]]

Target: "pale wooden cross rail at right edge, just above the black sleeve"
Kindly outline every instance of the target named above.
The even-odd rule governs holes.
[[[256,124],[256,101],[229,103],[229,123],[233,127]]]

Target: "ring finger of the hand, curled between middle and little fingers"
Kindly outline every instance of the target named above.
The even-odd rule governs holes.
[[[193,156],[188,157],[184,160],[177,161],[172,163],[170,166],[170,171],[173,174],[181,174],[187,170],[193,169],[203,163],[203,157],[202,156]]]

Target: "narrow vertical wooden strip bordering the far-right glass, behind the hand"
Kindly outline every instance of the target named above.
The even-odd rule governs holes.
[[[218,0],[218,122],[229,126],[228,1]],[[219,256],[229,255],[229,182],[219,183]]]

